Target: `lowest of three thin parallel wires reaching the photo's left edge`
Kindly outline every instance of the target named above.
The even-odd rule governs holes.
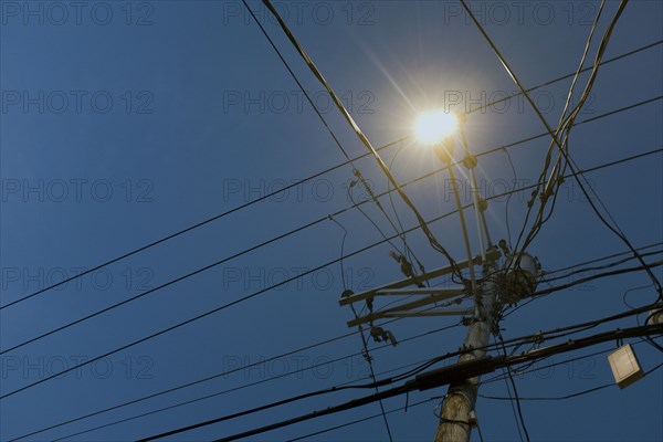
[[[646,155],[652,155],[652,154],[654,154],[654,152],[659,152],[659,151],[662,151],[662,150],[663,150],[663,149],[656,149],[656,150],[652,150],[652,151],[644,152],[644,154],[638,154],[638,155],[635,155],[635,156],[631,156],[631,157],[629,157],[629,158],[622,158],[622,159],[620,159],[620,160],[611,161],[611,162],[609,162],[609,164],[603,164],[603,165],[600,165],[600,166],[596,166],[596,167],[593,167],[593,168],[590,168],[590,169],[587,169],[587,170],[585,170],[585,172],[589,172],[589,171],[592,171],[592,170],[599,170],[599,169],[602,169],[602,168],[606,168],[606,167],[610,167],[610,166],[614,166],[614,165],[617,165],[617,164],[621,164],[621,162],[624,162],[624,161],[628,161],[628,160],[632,160],[632,159],[635,159],[635,158],[640,158],[640,157],[643,157],[643,156],[646,156]],[[533,185],[533,186],[530,186],[529,188],[532,188],[532,187],[534,187],[534,186],[536,186],[536,185]],[[528,187],[524,187],[524,188],[522,188],[522,189],[517,189],[517,190],[513,190],[513,191],[518,191],[518,192],[519,192],[519,191],[524,191],[524,190],[527,190],[527,189],[528,189]],[[498,196],[488,197],[487,199],[490,200],[490,199],[501,198],[501,197],[503,197],[503,196],[505,196],[505,194],[508,194],[508,192],[505,192],[505,193],[503,193],[503,194],[498,194]],[[470,206],[470,204],[467,204],[467,206]],[[455,213],[455,210],[454,210],[454,211],[451,211],[451,212],[448,212],[448,213],[445,213],[445,214],[442,214],[442,215],[440,215],[440,217],[436,217],[436,218],[434,218],[434,219],[430,220],[429,222],[430,222],[430,223],[436,222],[436,221],[439,221],[439,220],[441,220],[441,219],[444,219],[444,218],[446,218],[446,217],[450,217],[450,215],[452,215],[453,213]],[[419,229],[419,228],[420,228],[420,225],[418,225],[418,227],[414,227],[414,228],[411,228],[411,229],[409,229],[409,230],[408,230],[408,232],[414,231],[414,230],[417,230],[417,229]],[[394,236],[391,236],[391,238],[393,239],[393,238],[396,238],[396,235],[394,235]],[[372,249],[372,248],[375,248],[375,246],[377,246],[377,245],[379,245],[379,244],[382,244],[383,242],[385,242],[383,240],[382,240],[382,241],[378,241],[378,242],[376,242],[376,243],[373,243],[373,244],[370,244],[370,245],[364,246],[364,248],[361,248],[361,249],[358,249],[358,250],[356,250],[355,252],[351,252],[350,254],[348,254],[346,257],[348,257],[348,256],[354,256],[354,255],[357,255],[357,254],[360,254],[360,253],[362,253],[362,252],[365,252],[365,251],[367,251],[367,250],[370,250],[370,249]],[[179,327],[182,327],[182,326],[185,326],[185,325],[188,325],[188,324],[191,324],[191,323],[193,323],[193,322],[197,322],[197,320],[199,320],[199,319],[202,319],[202,318],[204,318],[204,317],[207,317],[207,316],[210,316],[210,315],[212,315],[212,314],[214,314],[214,313],[221,312],[221,311],[223,311],[223,309],[225,309],[225,308],[228,308],[228,307],[231,307],[231,306],[233,306],[233,305],[235,305],[235,304],[239,304],[239,303],[242,303],[242,302],[244,302],[244,301],[248,301],[248,299],[250,299],[250,298],[253,298],[253,297],[255,297],[255,296],[259,296],[259,295],[261,295],[261,294],[263,294],[263,293],[265,293],[265,292],[269,292],[269,291],[271,291],[271,290],[273,290],[273,288],[275,288],[275,287],[277,287],[277,286],[281,286],[281,285],[283,285],[283,284],[288,284],[288,283],[291,283],[291,282],[293,282],[293,281],[295,281],[295,280],[298,280],[298,278],[301,278],[301,277],[304,277],[304,276],[306,276],[307,274],[311,274],[311,273],[313,273],[313,272],[317,272],[317,271],[319,271],[319,270],[322,270],[322,269],[325,269],[325,267],[327,267],[327,266],[329,266],[329,265],[333,265],[333,264],[337,263],[338,261],[339,261],[339,259],[336,259],[336,260],[333,260],[333,261],[330,261],[330,262],[327,262],[327,263],[325,263],[325,264],[318,265],[318,266],[316,266],[316,267],[314,267],[314,269],[312,269],[312,270],[308,270],[308,271],[306,271],[306,272],[303,272],[303,273],[301,273],[301,274],[297,274],[296,276],[293,276],[293,277],[291,277],[291,278],[284,280],[284,281],[282,281],[282,282],[280,282],[280,283],[273,284],[273,285],[271,285],[271,286],[269,286],[269,287],[265,287],[265,288],[262,288],[262,290],[260,290],[260,291],[253,292],[253,293],[251,293],[251,294],[249,294],[249,295],[245,295],[245,296],[243,296],[243,297],[240,297],[240,298],[238,298],[238,299],[235,299],[235,301],[232,301],[232,302],[230,302],[230,303],[227,303],[227,304],[224,304],[224,305],[221,305],[221,306],[219,306],[219,307],[215,307],[215,308],[213,308],[213,309],[211,309],[211,311],[208,311],[208,312],[206,312],[206,313],[202,313],[202,314],[200,314],[200,315],[197,315],[197,316],[194,316],[194,317],[192,317],[192,318],[189,318],[189,319],[186,319],[186,320],[183,320],[183,322],[180,322],[180,323],[178,323],[178,324],[176,324],[176,325],[172,325],[172,326],[170,326],[170,327],[168,327],[168,328],[164,328],[164,329],[161,329],[161,330],[159,330],[159,332],[156,332],[156,333],[154,333],[154,334],[151,334],[151,335],[145,336],[145,337],[143,337],[143,338],[140,338],[140,339],[137,339],[137,340],[135,340],[135,341],[133,341],[133,343],[126,344],[126,345],[124,345],[124,346],[122,346],[122,347],[119,347],[119,348],[116,348],[116,349],[109,350],[109,351],[107,351],[107,352],[105,352],[105,354],[103,354],[103,355],[99,355],[99,356],[96,356],[96,357],[94,357],[94,358],[87,359],[87,360],[85,360],[84,362],[81,362],[81,364],[78,364],[78,365],[75,365],[75,366],[69,367],[69,368],[66,368],[66,369],[64,369],[64,370],[62,370],[62,371],[59,371],[59,372],[56,372],[56,373],[52,373],[51,376],[44,377],[44,378],[42,378],[42,379],[40,379],[40,380],[36,380],[36,381],[32,382],[32,383],[29,383],[29,385],[27,385],[27,386],[23,386],[23,387],[21,387],[21,388],[18,388],[18,389],[15,389],[15,390],[12,390],[12,391],[10,391],[10,392],[8,392],[8,393],[4,393],[4,394],[0,396],[0,400],[2,400],[2,399],[6,399],[6,398],[8,398],[8,397],[11,397],[11,396],[13,396],[13,394],[15,394],[15,393],[18,393],[18,392],[24,391],[24,390],[27,390],[27,389],[29,389],[29,388],[32,388],[32,387],[34,387],[34,386],[38,386],[38,385],[40,385],[40,383],[46,382],[46,381],[49,381],[49,380],[51,380],[51,379],[54,379],[54,378],[56,378],[56,377],[60,377],[61,375],[63,375],[63,373],[66,373],[66,372],[69,372],[69,371],[72,371],[72,370],[78,369],[78,368],[81,368],[81,367],[84,367],[84,366],[86,366],[86,365],[88,365],[88,364],[93,364],[93,362],[95,362],[96,360],[99,360],[99,359],[102,359],[102,358],[108,357],[108,356],[110,356],[110,355],[114,355],[114,354],[116,354],[116,352],[118,352],[118,351],[125,350],[125,349],[127,349],[127,348],[134,347],[134,346],[136,346],[136,345],[138,345],[138,344],[141,344],[141,343],[144,343],[144,341],[150,340],[150,339],[152,339],[152,338],[155,338],[155,337],[158,337],[158,336],[160,336],[160,335],[164,335],[164,334],[166,334],[166,333],[168,333],[168,332],[171,332],[171,330],[173,330],[173,329],[177,329],[177,328],[179,328]],[[611,273],[611,274],[619,274],[619,273],[623,273],[623,271],[615,271],[615,272],[617,272],[617,273]],[[567,286],[570,286],[570,285],[568,285],[568,284],[567,284]],[[551,292],[552,292],[552,291],[548,291],[547,293],[551,293]]]

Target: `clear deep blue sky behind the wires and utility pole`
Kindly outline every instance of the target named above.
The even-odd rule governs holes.
[[[251,2],[329,126],[351,157],[366,152],[336,112],[323,86],[303,64],[265,8]],[[302,45],[375,146],[411,135],[422,110],[465,112],[513,94],[517,87],[477,29],[446,1],[278,2]],[[472,2],[522,82],[532,87],[576,70],[599,2]],[[13,2],[0,1],[0,304],[73,276],[138,246],[222,213],[313,173],[344,157],[302,96],[273,49],[239,1]],[[617,10],[607,2],[594,44]],[[631,1],[617,24],[606,57],[662,39],[663,6]],[[648,104],[578,126],[570,151],[582,169],[661,148],[661,73],[657,44],[601,67],[578,120],[636,103]],[[583,81],[587,74],[580,77]],[[570,81],[533,96],[556,123]],[[578,95],[576,95],[577,99]],[[522,99],[471,114],[466,126],[474,152],[545,131]],[[539,138],[480,158],[484,194],[535,182],[548,141]],[[432,154],[408,139],[381,151],[399,182],[440,167]],[[356,167],[376,191],[387,190],[375,160]],[[663,239],[661,152],[588,173],[587,178],[635,246]],[[349,206],[348,166],[280,197],[250,206],[187,234],[45,292],[0,312],[3,350],[80,317]],[[440,172],[406,187],[425,219],[452,211],[449,175]],[[551,220],[530,246],[543,266],[555,270],[625,251],[600,224],[572,180]],[[463,190],[466,190],[464,188]],[[356,190],[357,199],[365,196]],[[509,202],[512,235],[522,227],[528,192]],[[463,194],[471,202],[467,192]],[[382,204],[394,219],[388,198]],[[493,239],[507,238],[506,199],[490,203]],[[391,227],[375,204],[367,214],[388,234]],[[406,228],[412,213],[394,198]],[[478,253],[474,218],[467,213]],[[381,240],[357,210],[335,217],[347,230],[345,252]],[[464,256],[457,217],[431,224],[456,260]],[[2,394],[74,367],[220,305],[296,276],[340,256],[343,230],[323,220],[296,234],[243,254],[59,334],[0,356]],[[408,243],[427,269],[445,265],[415,231]],[[394,241],[400,248],[401,243]],[[402,277],[381,244],[344,261],[355,292]],[[653,249],[656,250],[656,249]],[[661,277],[659,270],[656,275]],[[643,272],[598,280],[543,297],[502,323],[505,338],[600,318],[645,305],[655,291]],[[10,440],[183,383],[332,339],[351,332],[351,312],[338,306],[338,263],[246,302],[70,371],[0,401],[0,439]],[[399,338],[453,325],[453,318],[399,320],[388,328]],[[598,330],[635,326],[633,318]],[[463,327],[380,348],[370,343],[376,372],[455,350]],[[604,344],[565,358],[609,349]],[[661,355],[635,346],[644,369]],[[314,370],[228,392],[94,432],[74,441],[134,440],[252,408],[269,401],[367,376],[357,335],[214,378],[29,440],[53,440],[112,421],[168,407],[287,370]],[[523,397],[564,396],[612,380],[606,355],[516,377]],[[663,382],[657,371],[638,383],[564,401],[524,401],[533,440],[655,441],[663,438]],[[410,403],[441,397],[445,389],[413,393]],[[486,385],[488,396],[506,396],[504,381]],[[338,392],[265,413],[211,425],[172,440],[212,440],[290,418],[362,392]],[[394,440],[431,440],[438,401],[390,413]],[[401,408],[404,398],[385,402]],[[476,408],[485,440],[517,440],[508,401],[480,398]],[[280,441],[379,413],[377,404],[277,430],[255,440]],[[478,440],[476,431],[473,440]],[[311,440],[387,440],[381,419],[326,432]]]

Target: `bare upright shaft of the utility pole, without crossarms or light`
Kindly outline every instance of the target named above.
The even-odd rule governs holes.
[[[494,274],[497,270],[495,260],[483,265],[483,275]],[[484,349],[490,341],[493,329],[493,311],[496,301],[495,284],[484,280],[477,285],[476,316],[467,328],[463,349],[473,349],[459,357],[459,362],[471,361],[485,356]],[[449,386],[444,397],[440,423],[435,433],[435,442],[463,442],[470,440],[470,431],[476,423],[474,406],[478,389],[478,377],[466,379]]]

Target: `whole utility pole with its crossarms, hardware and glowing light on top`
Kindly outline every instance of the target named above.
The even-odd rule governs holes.
[[[486,356],[485,348],[490,344],[491,335],[494,332],[495,312],[498,304],[515,304],[522,298],[530,296],[536,287],[536,278],[540,265],[536,257],[522,252],[518,254],[518,259],[515,260],[514,269],[509,269],[515,256],[508,250],[506,242],[502,240],[499,241],[499,249],[505,254],[506,262],[509,264],[505,264],[499,269],[498,260],[501,253],[498,248],[491,243],[491,235],[484,214],[487,202],[480,194],[474,172],[477,161],[476,157],[470,152],[463,130],[464,123],[464,115],[450,116],[443,112],[434,112],[422,116],[422,119],[417,124],[417,131],[422,141],[430,144],[435,156],[446,165],[461,221],[466,261],[418,276],[411,274],[411,272],[403,272],[409,276],[407,280],[397,281],[358,294],[346,291],[341,295],[339,305],[352,305],[359,302],[366,303],[368,314],[360,317],[356,315],[355,319],[347,323],[348,327],[368,324],[370,334],[375,340],[390,341],[394,346],[398,343],[393,335],[388,330],[383,330],[379,325],[373,324],[375,322],[389,317],[463,316],[463,324],[467,325],[469,323],[467,335],[461,348],[464,352],[460,356],[457,364],[460,367],[470,367],[473,366],[473,361],[483,359]],[[481,248],[481,255],[478,256],[472,255],[463,204],[454,173],[453,151],[455,140],[450,134],[455,130],[460,130],[461,134],[465,154],[462,164],[469,171],[467,176],[472,187],[476,229]],[[477,278],[475,275],[475,265],[482,265],[483,273],[481,278]],[[470,274],[470,281],[463,281],[464,284],[461,287],[433,288],[422,285],[425,281],[465,269]],[[497,278],[498,282],[496,282]],[[407,288],[412,285],[417,285],[418,287]],[[499,294],[497,293],[498,287]],[[373,301],[377,298],[399,295],[417,296],[418,299],[373,311]],[[497,295],[499,295],[499,299]],[[454,304],[463,303],[467,298],[472,298],[474,303],[472,308],[449,308]],[[430,307],[431,305],[433,306]],[[466,375],[467,378],[452,381],[449,386],[440,413],[435,442],[469,441],[472,427],[476,425],[474,406],[476,403],[480,376],[476,375],[476,371],[467,371]]]

